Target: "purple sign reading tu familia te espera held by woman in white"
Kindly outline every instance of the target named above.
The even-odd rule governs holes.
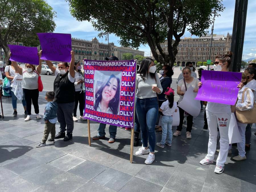
[[[234,105],[241,82],[242,73],[224,71],[202,71],[202,86],[196,100]]]

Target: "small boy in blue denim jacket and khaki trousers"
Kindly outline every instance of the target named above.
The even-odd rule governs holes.
[[[42,147],[46,145],[46,141],[54,143],[54,137],[55,137],[55,123],[57,122],[57,108],[58,104],[57,102],[54,102],[54,92],[53,91],[48,91],[45,94],[45,99],[48,101],[48,103],[45,106],[44,110],[44,121],[45,121],[45,126],[44,126],[44,136],[43,139],[40,143],[36,145],[36,147]],[[47,139],[49,136],[49,133],[51,133],[51,138]]]

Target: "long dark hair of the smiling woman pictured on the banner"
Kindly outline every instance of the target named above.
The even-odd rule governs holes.
[[[105,88],[105,86],[108,84],[108,82],[110,81],[111,78],[115,78],[117,80],[117,90],[115,93],[115,100],[111,100],[108,104],[109,108],[112,110],[113,114],[117,114],[118,113],[118,106],[119,106],[119,93],[120,93],[120,80],[119,78],[115,77],[115,75],[110,75],[110,77],[108,78],[108,80],[106,80],[99,88],[99,90],[96,92],[95,94],[95,104],[94,104],[94,110],[96,111],[99,103],[102,99],[102,91]]]

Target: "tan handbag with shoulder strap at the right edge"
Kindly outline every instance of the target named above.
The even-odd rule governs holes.
[[[243,90],[242,103],[244,102],[244,92],[248,88]],[[239,123],[256,123],[256,102],[253,104],[253,108],[245,111],[240,111],[236,109],[236,118]]]

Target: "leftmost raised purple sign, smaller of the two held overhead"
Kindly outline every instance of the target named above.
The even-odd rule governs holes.
[[[12,56],[11,61],[18,61],[22,63],[29,63],[33,65],[39,64],[38,50],[36,47],[25,47],[20,45],[8,45]]]

